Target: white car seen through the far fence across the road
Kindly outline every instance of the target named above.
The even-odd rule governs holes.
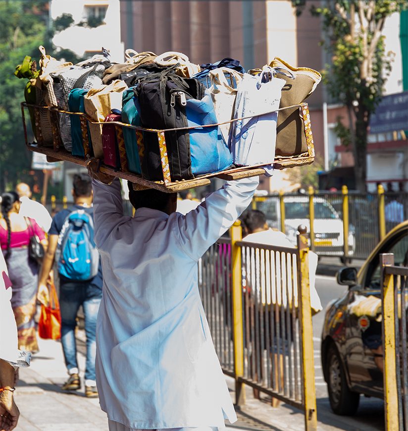
[[[285,230],[288,239],[296,245],[298,226],[304,224],[310,230],[309,198],[305,195],[285,196]],[[265,198],[257,202],[257,209],[266,214],[271,227],[280,228],[280,204],[278,198]],[[320,255],[340,256],[344,260],[343,220],[324,198],[314,197],[314,251]],[[356,247],[354,230],[349,230],[349,256]]]

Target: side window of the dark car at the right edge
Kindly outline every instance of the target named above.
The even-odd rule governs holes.
[[[397,239],[394,238],[393,241],[385,244],[375,256],[367,271],[366,289],[381,288],[380,253],[394,253],[394,265],[396,267],[408,266],[408,230],[403,232]]]

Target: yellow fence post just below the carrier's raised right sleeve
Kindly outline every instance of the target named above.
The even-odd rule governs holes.
[[[235,368],[235,393],[238,406],[245,403],[244,384],[239,377],[244,375],[244,332],[242,324],[242,269],[241,247],[236,243],[242,240],[241,221],[237,220],[231,227],[232,250],[232,310],[234,327],[234,368]]]

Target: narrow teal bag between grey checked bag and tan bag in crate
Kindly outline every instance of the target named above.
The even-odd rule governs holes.
[[[74,88],[70,91],[68,97],[68,107],[71,112],[85,112],[84,97],[88,90],[83,88]],[[81,120],[79,115],[70,115],[71,117],[71,140],[72,155],[85,157],[84,142],[82,139]],[[91,133],[87,122],[89,148],[92,149]]]

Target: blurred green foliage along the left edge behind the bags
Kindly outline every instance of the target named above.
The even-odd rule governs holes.
[[[48,1],[0,1],[0,190],[30,181],[31,155],[25,149],[20,102],[25,79],[14,76],[25,55],[39,57],[44,44]],[[28,115],[27,115],[28,117]]]

